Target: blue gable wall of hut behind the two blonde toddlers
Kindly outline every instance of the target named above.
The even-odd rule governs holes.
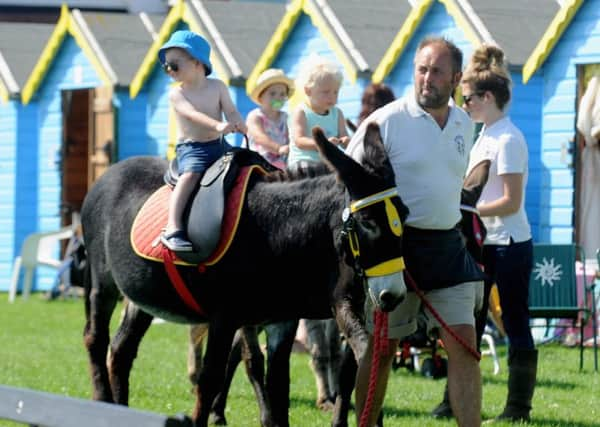
[[[342,110],[346,118],[356,122],[358,113],[360,112],[362,92],[369,82],[364,79],[358,79],[356,84],[353,84],[350,81],[346,70],[341,66],[340,58],[336,56],[332,47],[320,33],[319,29],[313,25],[308,15],[304,13],[300,15],[294,29],[289,34],[271,66],[283,69],[288,76],[296,79],[302,63],[311,53],[316,53],[340,64],[340,68],[344,74],[344,82],[340,88],[338,107]],[[301,91],[302,88],[296,88],[296,90]]]

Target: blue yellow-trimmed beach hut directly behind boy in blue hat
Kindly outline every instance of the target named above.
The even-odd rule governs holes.
[[[177,135],[168,91],[173,82],[159,66],[157,54],[174,31],[191,30],[210,43],[213,74],[209,77],[218,78],[228,86],[231,99],[245,117],[254,108],[246,94],[246,78],[284,13],[284,4],[272,2],[178,1],[131,84],[131,98],[145,99],[147,140],[145,144],[132,145],[128,155],[172,155]],[[239,135],[230,135],[228,140],[236,145],[241,143]]]

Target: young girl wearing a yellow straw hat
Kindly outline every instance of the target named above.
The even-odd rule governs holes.
[[[288,115],[281,108],[294,91],[294,82],[282,70],[264,71],[250,93],[259,108],[248,114],[250,146],[278,168],[285,168],[289,151]]]

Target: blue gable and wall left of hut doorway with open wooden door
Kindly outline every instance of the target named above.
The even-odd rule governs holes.
[[[20,212],[15,225],[16,253],[28,234],[61,226],[61,91],[101,84],[83,51],[67,35],[31,103],[19,108],[22,120],[16,173],[16,206]],[[55,270],[38,268],[33,289],[50,289],[55,277]]]

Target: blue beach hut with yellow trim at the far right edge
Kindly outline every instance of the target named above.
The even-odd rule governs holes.
[[[587,162],[597,146],[586,148],[576,123],[594,76],[600,77],[600,1],[565,1],[527,58],[523,81],[542,84],[541,240],[580,243],[588,258],[600,247],[598,171]]]

